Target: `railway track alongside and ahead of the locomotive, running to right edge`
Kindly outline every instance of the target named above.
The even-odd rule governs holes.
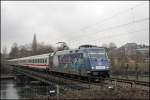
[[[25,71],[26,70],[26,71]],[[80,80],[80,79],[75,79],[75,78],[69,78],[69,77],[64,77],[64,76],[52,76],[50,74],[45,74],[45,73],[38,73],[35,71],[27,70],[25,69],[24,71],[27,73],[31,73],[34,75],[37,75],[38,77],[43,77],[45,80],[49,80],[49,78],[52,79],[57,79],[59,81],[62,81],[62,83],[67,83],[68,87],[71,88],[83,88],[83,87],[91,87],[93,86],[100,86],[100,87],[108,87],[108,88],[113,88],[116,86],[122,86],[122,87],[136,87],[136,88],[142,88],[142,89],[149,89],[150,83],[149,82],[143,82],[143,81],[136,81],[136,80],[129,80],[129,79],[121,79],[121,78],[109,78],[104,82],[90,82],[87,80]],[[37,74],[38,73],[38,74]]]

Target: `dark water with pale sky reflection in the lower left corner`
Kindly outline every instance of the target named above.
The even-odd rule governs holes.
[[[16,85],[14,80],[1,80],[1,99],[31,98],[39,95],[49,95],[52,86]]]

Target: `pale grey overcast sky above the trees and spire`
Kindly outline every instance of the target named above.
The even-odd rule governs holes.
[[[149,44],[149,1],[1,1],[1,48],[37,41]]]

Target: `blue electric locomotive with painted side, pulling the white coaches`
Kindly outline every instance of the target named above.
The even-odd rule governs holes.
[[[82,45],[76,50],[57,51],[52,62],[55,72],[96,80],[109,77],[110,63],[103,47]]]

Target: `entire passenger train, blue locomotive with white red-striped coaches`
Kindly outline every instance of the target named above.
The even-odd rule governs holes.
[[[109,78],[110,60],[104,47],[82,45],[74,50],[35,55],[8,60],[11,65],[46,70],[74,78],[102,80]]]

